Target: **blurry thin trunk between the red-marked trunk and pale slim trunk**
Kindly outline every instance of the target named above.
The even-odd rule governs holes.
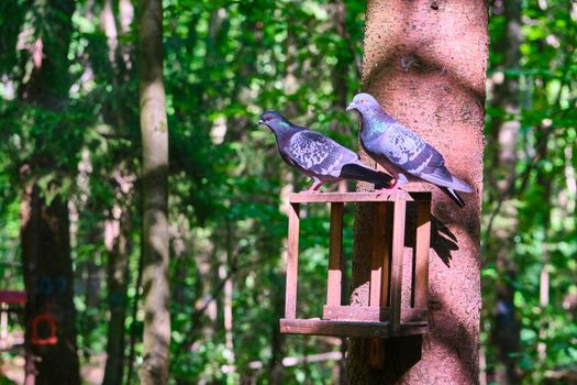
[[[129,25],[133,19],[133,6],[126,0],[120,0],[116,3],[119,12],[114,14],[113,1],[104,1],[101,11],[101,26],[108,38],[109,63],[112,69],[110,72],[110,81],[114,89],[120,90],[120,85],[130,77],[130,67],[133,58],[131,57],[132,44],[126,43],[126,40],[120,40],[119,35],[130,33]],[[115,94],[116,98],[107,106],[107,113],[103,114],[104,121],[118,133],[126,130],[126,116],[132,117],[125,98],[119,96],[122,94]],[[111,172],[109,184],[110,190],[116,197],[116,204],[110,209],[109,218],[104,223],[104,244],[109,257],[107,288],[110,320],[108,323],[107,363],[103,384],[121,384],[123,382],[124,366],[126,365],[124,323],[127,311],[126,290],[131,250],[130,207],[133,202],[133,182],[136,174],[136,170],[132,167],[132,160],[126,160],[125,153],[116,152],[112,154],[112,157],[119,160],[119,162]]]

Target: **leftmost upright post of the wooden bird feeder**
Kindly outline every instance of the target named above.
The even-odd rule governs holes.
[[[285,317],[297,317],[297,277],[299,270],[299,204],[290,204],[288,210],[289,233],[287,252],[287,293],[285,297]]]

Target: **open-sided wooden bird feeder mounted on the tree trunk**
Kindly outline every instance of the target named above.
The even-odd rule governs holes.
[[[347,202],[374,205],[369,306],[342,305],[343,207]],[[322,318],[297,318],[297,272],[299,258],[299,206],[331,204],[329,278]],[[411,282],[402,280],[407,206],[417,205],[417,234]],[[413,212],[413,210],[411,210]],[[285,318],[280,332],[382,339],[422,334],[428,331],[429,246],[431,193],[300,193],[290,195]],[[410,288],[403,301],[402,288]],[[409,296],[404,296],[409,297]]]

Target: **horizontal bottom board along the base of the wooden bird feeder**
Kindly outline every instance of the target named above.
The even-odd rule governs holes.
[[[280,332],[289,334],[337,336],[355,338],[389,338],[423,334],[429,327],[404,323],[395,333],[389,322],[328,321],[321,319],[281,319]]]

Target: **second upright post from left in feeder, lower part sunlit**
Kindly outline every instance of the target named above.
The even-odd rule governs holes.
[[[343,258],[343,208],[344,204],[331,204],[331,231],[329,239],[329,279],[326,305],[341,305]]]

